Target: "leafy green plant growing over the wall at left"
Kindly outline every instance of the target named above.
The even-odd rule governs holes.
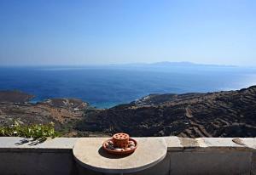
[[[58,133],[55,132],[54,126],[54,122],[50,122],[45,125],[20,125],[18,121],[14,121],[11,126],[0,127],[0,136],[34,138],[38,141],[44,141],[46,138],[55,138],[58,136]]]

